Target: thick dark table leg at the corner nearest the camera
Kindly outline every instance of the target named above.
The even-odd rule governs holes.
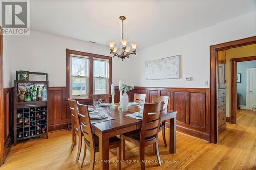
[[[109,170],[109,138],[99,138],[100,169]]]

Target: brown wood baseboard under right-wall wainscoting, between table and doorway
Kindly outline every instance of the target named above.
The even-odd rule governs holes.
[[[167,128],[170,128],[169,122],[166,122],[165,125],[166,125]],[[177,129],[178,132],[181,132],[181,133],[184,133],[184,134],[187,134],[187,135],[190,135],[190,136],[194,136],[194,137],[206,140],[206,141],[210,141],[210,136],[207,133],[199,132],[199,131],[196,131],[196,130],[193,130],[193,129],[188,129],[188,128],[185,128],[185,127],[182,127],[182,126],[179,126],[179,125],[176,125],[176,129]]]

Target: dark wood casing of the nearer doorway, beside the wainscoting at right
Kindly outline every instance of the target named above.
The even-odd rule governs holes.
[[[217,126],[217,53],[220,50],[251,45],[256,43],[256,36],[225,42],[210,46],[210,142],[217,143],[218,126]]]

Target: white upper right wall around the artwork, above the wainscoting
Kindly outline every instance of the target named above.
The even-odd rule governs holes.
[[[255,35],[256,11],[145,48],[138,52],[137,57],[130,58],[130,65],[134,68],[131,69],[132,82],[136,86],[148,87],[208,88],[204,81],[210,79],[210,45]],[[145,79],[145,61],[175,55],[181,55],[181,79]],[[193,80],[185,81],[185,77],[193,77]]]

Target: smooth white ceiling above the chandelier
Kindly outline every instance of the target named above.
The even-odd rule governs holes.
[[[256,10],[255,0],[32,0],[31,29],[108,45],[121,37],[142,49]],[[119,44],[119,43],[118,43]]]

